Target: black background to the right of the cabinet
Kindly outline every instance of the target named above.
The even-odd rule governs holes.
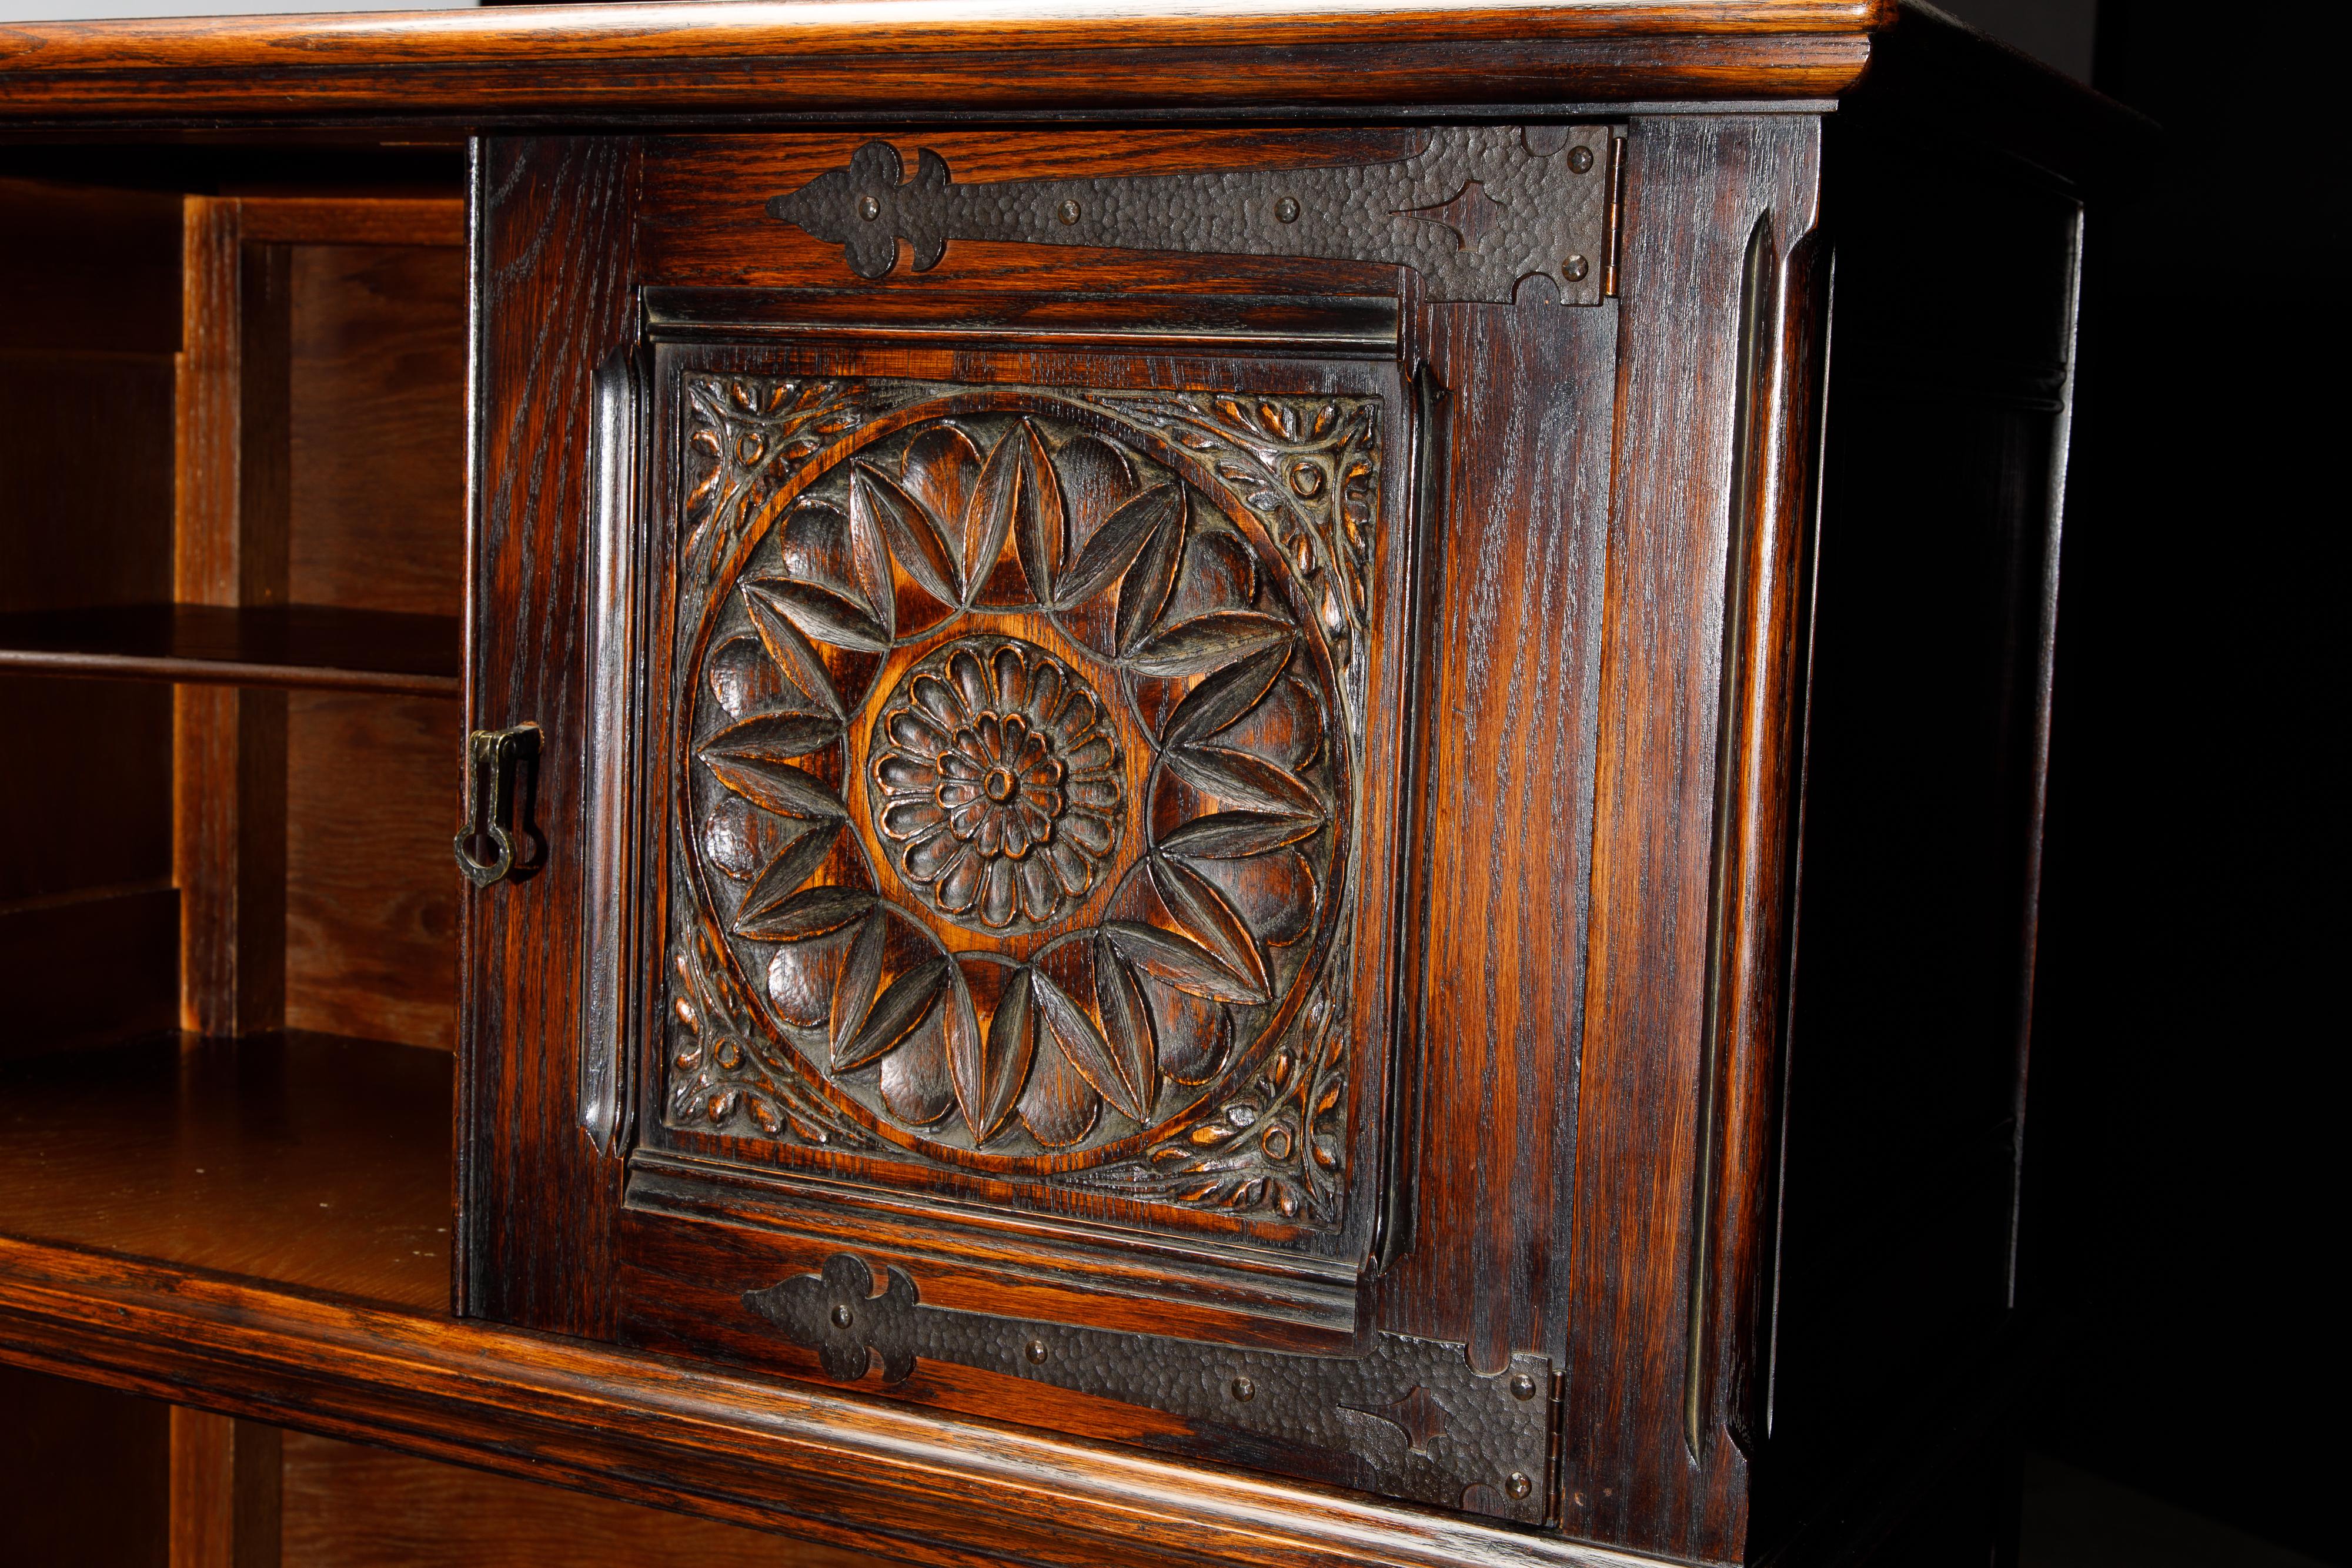
[[[2166,127],[2093,202],[2020,1288],[2030,1441],[2352,1561],[2333,7],[1947,9]]]

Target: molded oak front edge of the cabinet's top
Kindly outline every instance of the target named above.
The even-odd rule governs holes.
[[[1893,0],[804,0],[0,28],[0,125],[1820,99]]]

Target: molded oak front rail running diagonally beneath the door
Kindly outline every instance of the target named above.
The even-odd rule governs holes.
[[[1656,1568],[1317,1486],[0,1239],[0,1359],[920,1563]]]

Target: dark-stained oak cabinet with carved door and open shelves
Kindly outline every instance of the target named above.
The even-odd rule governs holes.
[[[0,56],[5,395],[132,454],[0,437],[103,757],[0,1356],[938,1563],[1997,1547],[2136,127],[1870,5],[1204,26]]]

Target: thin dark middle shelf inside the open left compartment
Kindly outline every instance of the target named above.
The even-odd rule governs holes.
[[[108,604],[0,616],[0,672],[459,696],[454,616]]]

